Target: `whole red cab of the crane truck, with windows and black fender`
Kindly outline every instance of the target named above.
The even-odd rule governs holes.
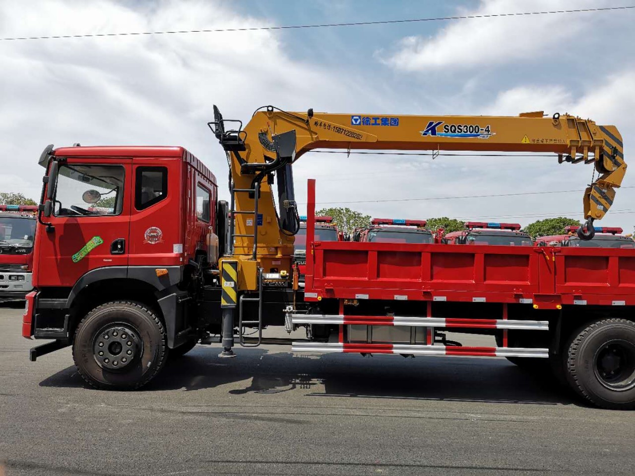
[[[47,173],[23,336],[62,345],[88,310],[116,299],[168,316],[168,347],[187,341],[181,302],[201,263],[218,256],[215,176],[182,147],[49,146],[39,163]]]

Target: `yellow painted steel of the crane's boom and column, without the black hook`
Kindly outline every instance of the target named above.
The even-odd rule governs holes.
[[[358,119],[359,118],[359,119]],[[370,119],[364,121],[364,119]],[[391,126],[391,119],[398,125]],[[434,124],[438,126],[434,126]],[[355,125],[353,125],[355,124]],[[376,125],[373,125],[376,124]],[[434,127],[431,127],[434,126]],[[448,126],[448,134],[445,133]],[[453,127],[452,127],[453,126]],[[478,131],[474,136],[452,136],[452,131]],[[434,132],[432,131],[434,129]],[[544,117],[542,111],[506,116],[401,116],[398,114],[330,114],[260,110],[244,127],[246,146],[239,152],[247,163],[271,161],[275,153],[258,137],[295,131],[296,159],[313,149],[448,150],[500,152],[552,152],[560,162],[594,163],[598,178],[584,193],[584,218],[602,218],[620,186],[626,164],[622,136],[615,126],[599,126],[590,119],[562,115]],[[444,135],[446,134],[446,135]],[[254,175],[241,173],[232,152],[227,152],[236,188],[251,188]],[[513,158],[513,157],[512,157]],[[519,159],[521,160],[521,159]],[[257,288],[257,268],[291,272],[293,236],[278,227],[271,186],[264,180],[258,200],[262,225],[258,226],[257,260],[251,260],[253,239],[236,237],[234,260],[239,260],[239,289]],[[253,210],[253,198],[236,194],[236,210]],[[253,234],[249,215],[236,215],[236,234]],[[249,220],[249,221],[248,221]],[[245,277],[243,277],[243,270]]]

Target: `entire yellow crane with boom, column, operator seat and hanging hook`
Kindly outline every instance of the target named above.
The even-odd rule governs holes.
[[[297,231],[291,164],[310,150],[552,152],[559,162],[593,163],[598,178],[584,192],[587,232],[582,234],[587,238],[592,237],[593,221],[612,206],[626,170],[622,136],[615,126],[569,115],[544,117],[542,111],[515,117],[405,116],[286,112],[267,106],[244,129],[240,121],[223,119],[217,107],[214,111],[215,121],[208,125],[231,168],[233,255],[260,261],[265,270],[290,270]],[[231,122],[239,127],[226,130]],[[272,195],[274,173],[279,211]],[[255,282],[245,286],[254,289]]]

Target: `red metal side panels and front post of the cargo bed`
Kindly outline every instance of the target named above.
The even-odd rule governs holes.
[[[314,192],[311,181],[308,223]],[[533,303],[538,308],[582,302],[635,305],[633,249],[313,241],[310,254],[308,249],[307,244],[309,301],[394,300],[399,295],[424,301]]]

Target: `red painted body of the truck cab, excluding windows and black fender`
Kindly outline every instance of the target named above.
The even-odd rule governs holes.
[[[56,157],[65,163],[110,164],[124,168],[123,204],[119,215],[55,216],[46,218],[54,227],[36,230],[33,284],[73,286],[86,272],[115,266],[180,266],[205,251],[206,237],[216,222],[217,185],[203,162],[182,147],[64,147]],[[166,198],[148,208],[135,207],[135,180],[140,167],[165,168]],[[210,192],[210,221],[197,216],[196,188]],[[152,239],[148,239],[152,232]],[[79,261],[72,256],[93,237],[98,245]],[[110,253],[110,244],[125,240],[124,253]]]

